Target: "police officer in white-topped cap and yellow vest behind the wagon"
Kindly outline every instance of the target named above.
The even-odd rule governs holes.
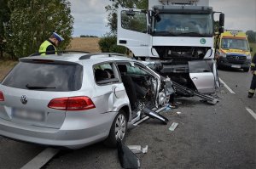
[[[61,41],[63,41],[64,38],[61,37],[60,35],[58,35],[56,32],[53,32],[52,35],[49,37],[49,39],[47,39],[46,41],[44,41],[38,52],[41,55],[45,55],[45,54],[56,54],[56,47],[59,45],[59,43]]]

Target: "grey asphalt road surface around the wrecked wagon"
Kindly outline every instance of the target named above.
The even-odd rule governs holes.
[[[219,103],[209,105],[196,97],[177,99],[177,110],[162,113],[167,125],[149,119],[128,132],[125,144],[148,145],[137,154],[141,168],[256,168],[256,97],[247,99],[252,75],[241,70],[219,70]],[[177,114],[177,111],[180,114]],[[177,122],[171,132],[168,128]],[[44,147],[0,138],[0,168],[20,168]],[[116,149],[94,144],[61,150],[43,168],[121,168]]]

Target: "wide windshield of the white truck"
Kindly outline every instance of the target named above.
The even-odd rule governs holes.
[[[155,36],[212,37],[212,14],[159,14]]]

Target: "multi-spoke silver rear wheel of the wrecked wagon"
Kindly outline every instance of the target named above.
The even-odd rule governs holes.
[[[117,139],[120,138],[125,141],[125,134],[127,132],[127,118],[124,110],[119,110],[118,115],[113,120],[112,126],[108,138],[105,140],[104,144],[108,147],[116,147]]]

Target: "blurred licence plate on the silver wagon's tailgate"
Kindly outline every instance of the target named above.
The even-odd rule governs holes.
[[[21,119],[21,120],[28,120],[28,121],[43,121],[44,120],[43,113],[30,111],[30,110],[14,109],[12,115],[14,118]]]

